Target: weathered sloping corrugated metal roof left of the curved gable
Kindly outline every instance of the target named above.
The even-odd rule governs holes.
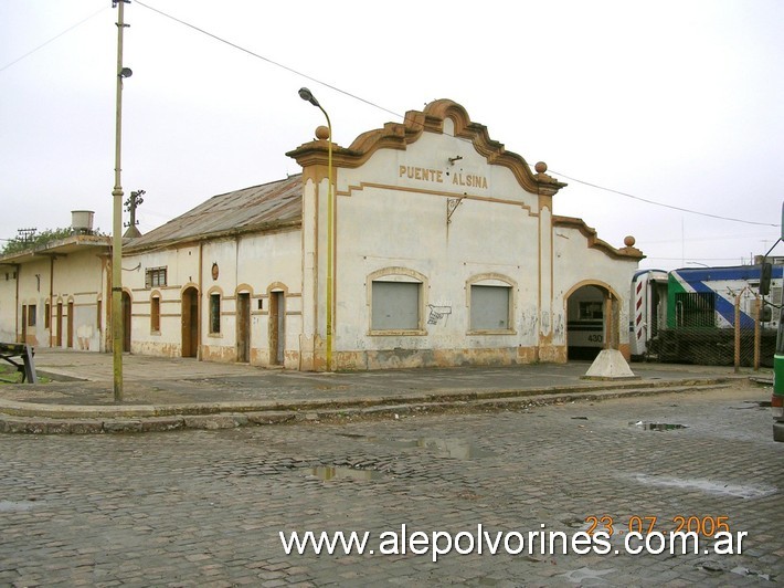
[[[213,196],[184,214],[134,239],[126,251],[155,249],[224,234],[301,223],[303,176]]]

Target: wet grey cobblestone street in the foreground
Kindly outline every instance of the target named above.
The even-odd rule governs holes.
[[[769,400],[769,388],[732,385],[339,423],[3,435],[0,585],[770,585],[784,579],[784,445]],[[380,553],[403,525],[528,538],[603,531],[607,517],[608,554]],[[629,522],[650,517],[661,533],[698,517],[748,535],[741,555],[706,538],[697,555],[623,553]],[[369,532],[374,554],[286,555],[279,532],[306,531]]]

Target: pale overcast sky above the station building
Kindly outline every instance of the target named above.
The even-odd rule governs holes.
[[[112,231],[117,13],[0,2],[0,238],[72,210]],[[569,183],[557,214],[634,235],[642,267],[749,262],[780,235],[781,0],[134,0],[125,20],[121,183],[147,192],[142,232],[298,172],[284,154],[324,124],[308,86],[345,147],[457,102]]]

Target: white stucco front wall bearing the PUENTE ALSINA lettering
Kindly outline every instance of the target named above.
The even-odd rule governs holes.
[[[538,197],[448,132],[425,133],[405,151],[380,150],[361,168],[339,172],[336,348],[346,357],[399,348],[476,360],[492,350],[488,360],[501,361],[520,347],[537,346]],[[449,158],[459,159],[453,165]],[[447,202],[460,198],[447,222]],[[390,267],[426,279],[421,334],[371,333],[369,277]],[[470,332],[468,294],[479,279],[511,286],[508,333]],[[428,324],[433,309],[442,317]]]

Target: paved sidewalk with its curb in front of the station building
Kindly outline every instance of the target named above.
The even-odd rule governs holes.
[[[112,354],[38,349],[45,384],[0,386],[0,432],[94,433],[229,428],[466,405],[553,402],[748,382],[770,370],[632,364],[635,379],[586,380],[589,361],[316,374],[243,364],[123,357],[114,401]]]

